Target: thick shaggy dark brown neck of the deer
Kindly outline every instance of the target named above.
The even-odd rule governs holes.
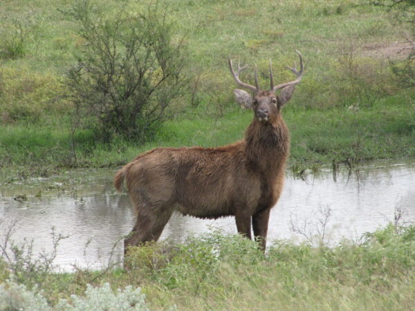
[[[265,174],[273,174],[284,167],[289,153],[290,135],[281,116],[272,123],[255,117],[245,133],[246,160]]]

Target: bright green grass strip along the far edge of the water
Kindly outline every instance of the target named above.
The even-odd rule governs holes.
[[[49,175],[67,167],[117,167],[154,147],[216,147],[243,138],[250,111],[228,109],[223,117],[182,115],[165,122],[154,140],[135,144],[114,140],[95,142],[89,131],[75,135],[76,162],[71,135],[64,119],[57,124],[13,124],[0,128],[0,164],[3,180],[10,176]],[[289,165],[295,170],[335,161],[358,164],[369,160],[404,160],[415,156],[415,97],[400,93],[358,111],[297,109],[287,106],[284,118],[291,130]]]

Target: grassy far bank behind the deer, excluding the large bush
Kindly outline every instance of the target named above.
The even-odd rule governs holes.
[[[95,3],[93,0],[86,1]],[[172,41],[184,38],[189,79],[169,102],[151,139],[126,140],[94,131],[94,118],[75,126],[67,73],[86,44],[68,12],[83,1],[2,1],[0,33],[0,169],[3,177],[48,175],[59,168],[114,167],[158,146],[218,146],[243,137],[251,113],[232,99],[228,55],[259,67],[268,59],[278,81],[301,50],[306,72],[284,109],[294,169],[331,162],[414,158],[414,91],[396,80],[388,59],[405,59],[411,29],[396,10],[365,1],[100,1],[106,15],[131,17],[149,3],[167,7]],[[169,24],[170,25],[170,24]],[[244,79],[252,79],[252,70]],[[147,82],[146,82],[147,83]],[[92,122],[92,123],[91,123]],[[76,125],[76,124],[75,124]]]

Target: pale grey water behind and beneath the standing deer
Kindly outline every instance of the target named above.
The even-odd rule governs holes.
[[[122,243],[114,245],[131,231],[133,209],[128,196],[113,189],[114,174],[109,169],[70,171],[1,185],[0,236],[17,220],[12,239],[33,240],[38,254],[52,249],[54,227],[68,236],[60,241],[55,258],[62,270],[73,265],[100,268],[108,263],[111,249],[113,259],[122,258]],[[268,241],[321,235],[324,221],[326,243],[356,239],[394,221],[397,209],[402,211],[401,222],[415,220],[415,164],[371,165],[335,176],[331,170],[320,171],[304,180],[286,175],[282,197],[271,212]],[[174,214],[161,239],[179,242],[211,227],[236,232],[234,218],[201,220]]]

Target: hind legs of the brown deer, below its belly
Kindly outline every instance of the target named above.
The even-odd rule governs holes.
[[[137,246],[148,241],[157,241],[170,216],[172,216],[173,210],[173,207],[167,206],[145,209],[144,211],[138,209],[133,230],[129,237],[124,240],[124,254],[127,254],[130,246]]]

